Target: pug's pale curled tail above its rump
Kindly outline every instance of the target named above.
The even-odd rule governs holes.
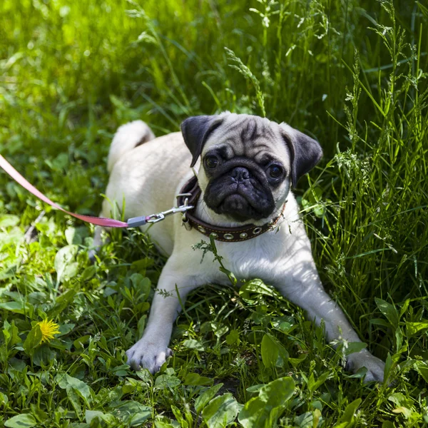
[[[133,121],[118,128],[108,153],[108,172],[111,173],[114,164],[128,151],[140,146],[155,137],[151,128],[143,121]]]

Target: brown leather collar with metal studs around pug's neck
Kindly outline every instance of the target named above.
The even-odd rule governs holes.
[[[177,195],[178,206],[180,205],[194,205],[198,202],[198,198],[200,196],[200,187],[198,184],[198,179],[196,177],[190,178],[183,188],[180,190],[180,194]],[[187,203],[186,200],[187,199]],[[223,228],[215,225],[210,225],[209,223],[205,223],[202,220],[199,220],[195,217],[193,210],[188,210],[183,214],[183,225],[190,230],[191,228],[195,228],[198,232],[202,233],[205,236],[210,237],[213,235],[215,240],[223,241],[225,243],[238,243],[241,241],[249,240],[252,238],[256,238],[262,233],[267,232],[268,230],[272,230],[277,225],[278,221],[282,217],[282,213],[284,212],[285,204],[282,207],[281,214],[270,220],[268,223],[264,225],[257,226],[253,224],[243,225],[239,228]]]

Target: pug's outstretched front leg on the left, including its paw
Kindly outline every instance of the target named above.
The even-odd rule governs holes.
[[[181,310],[180,300],[184,302],[188,292],[198,285],[194,276],[183,275],[180,267],[168,260],[159,277],[143,337],[126,351],[128,364],[134,370],[146,368],[156,373],[171,355],[168,345],[173,322]]]

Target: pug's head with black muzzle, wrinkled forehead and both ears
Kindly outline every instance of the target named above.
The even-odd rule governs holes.
[[[190,166],[201,157],[198,182],[206,205],[239,222],[269,218],[282,207],[290,183],[295,186],[322,156],[317,141],[258,116],[194,116],[181,132],[193,156]]]

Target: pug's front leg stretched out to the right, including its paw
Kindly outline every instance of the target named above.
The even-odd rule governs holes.
[[[287,299],[302,307],[308,317],[311,320],[315,319],[318,325],[321,320],[324,320],[328,340],[342,338],[347,342],[361,342],[345,314],[322,287],[312,255],[308,252],[304,259],[306,260],[300,258],[297,265],[293,265],[292,269],[287,270],[284,282],[277,283],[278,290]],[[384,362],[374,357],[366,349],[349,355],[347,367],[354,372],[361,367],[366,367],[365,382],[383,381]]]

